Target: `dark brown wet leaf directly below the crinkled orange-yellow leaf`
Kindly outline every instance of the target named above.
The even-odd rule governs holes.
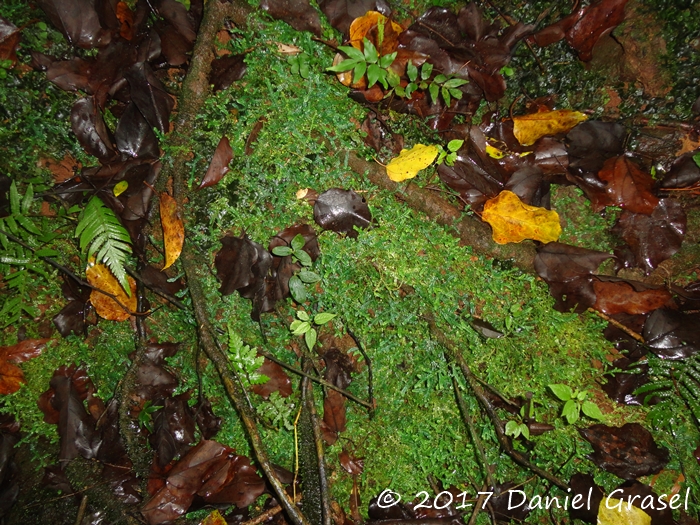
[[[560,312],[582,312],[595,304],[593,272],[612,257],[603,252],[587,250],[558,242],[550,242],[537,250],[535,271],[549,286]]]

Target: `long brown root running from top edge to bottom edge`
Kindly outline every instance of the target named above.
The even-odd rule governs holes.
[[[184,209],[183,204],[189,200],[189,190],[185,182],[186,174],[189,172],[186,162],[189,160],[188,153],[191,151],[188,144],[195,127],[196,116],[209,95],[208,75],[211,70],[211,62],[214,59],[214,39],[218,30],[223,26],[225,18],[228,17],[234,21],[240,20],[245,22],[246,9],[250,10],[249,7],[243,5],[243,2],[222,4],[217,0],[212,0],[205,4],[204,16],[195,43],[190,68],[182,84],[178,100],[179,110],[175,118],[175,129],[169,136],[168,141],[171,146],[175,146],[173,151],[176,153],[173,155],[172,163],[164,167],[157,181],[157,187],[162,191],[168,179],[170,177],[173,178],[173,193],[181,211]],[[177,146],[180,147],[178,148]],[[201,277],[198,275],[201,259],[197,257],[196,251],[191,244],[185,243],[180,260],[187,277],[202,349],[214,363],[226,393],[233,402],[245,426],[260,469],[270,481],[278,501],[284,507],[293,523],[296,525],[308,525],[307,518],[286,493],[284,485],[272,467],[245,390],[242,388],[235,373],[231,371],[227,356],[217,344],[215,330],[207,312],[207,296],[202,287]]]

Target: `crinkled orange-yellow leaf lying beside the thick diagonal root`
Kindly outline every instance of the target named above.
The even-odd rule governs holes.
[[[486,201],[482,219],[493,228],[493,240],[498,244],[525,239],[553,242],[561,235],[557,212],[529,206],[508,190]]]

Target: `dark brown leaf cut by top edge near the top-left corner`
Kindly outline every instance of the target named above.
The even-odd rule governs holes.
[[[90,0],[37,0],[37,4],[74,46],[90,49],[109,42]]]

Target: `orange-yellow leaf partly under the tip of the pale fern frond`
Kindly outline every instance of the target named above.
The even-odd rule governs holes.
[[[127,310],[131,312],[136,311],[136,281],[131,277],[127,277],[129,288],[131,289],[131,297],[129,297],[119,284],[119,281],[117,281],[117,278],[112,275],[112,272],[104,264],[88,263],[85,275],[92,286],[111,293],[117,298],[119,303],[124,305],[122,307],[111,297],[97,290],[92,290],[90,292],[90,302],[95,307],[97,315],[109,321],[125,321],[131,315]]]

